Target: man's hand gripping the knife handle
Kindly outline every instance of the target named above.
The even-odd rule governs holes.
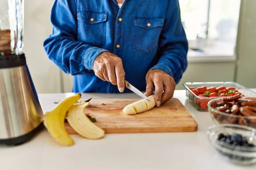
[[[125,71],[122,60],[115,54],[103,52],[95,59],[93,71],[103,81],[117,85],[120,92],[125,89]]]

